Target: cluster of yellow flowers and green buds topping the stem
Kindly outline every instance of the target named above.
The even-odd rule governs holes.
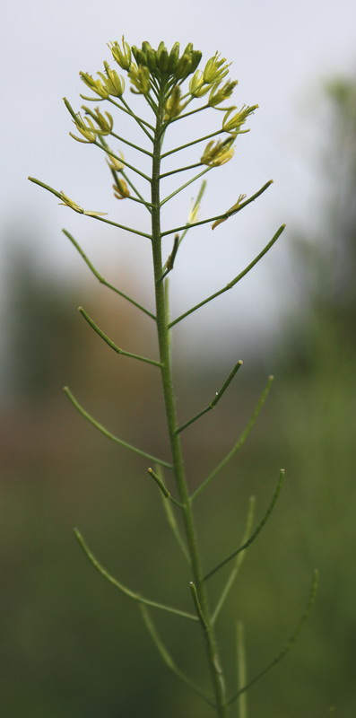
[[[215,52],[204,67],[198,69],[202,53],[200,50],[196,50],[191,42],[181,52],[178,42],[175,42],[170,50],[166,48],[164,42],[160,42],[156,49],[152,48],[147,41],[142,43],[141,48],[135,45],[130,47],[124,36],[121,43],[110,42],[109,49],[114,62],[126,72],[131,92],[143,95],[156,114],[159,111],[162,112],[161,117],[165,126],[180,118],[190,102],[200,100],[205,96],[204,103],[198,109],[222,110],[224,115],[221,129],[208,137],[226,133],[227,138],[209,142],[201,155],[200,162],[211,168],[229,162],[234,154],[232,145],[239,134],[248,132],[248,129],[242,129],[242,126],[258,105],[242,105],[241,109],[235,105],[221,107],[222,103],[230,99],[238,83],[237,80],[229,79],[230,63],[226,61],[225,57],[221,57],[220,53]],[[96,97],[82,95],[85,100],[109,100],[117,105],[114,98],[118,98],[124,104],[125,111],[129,111],[131,114],[126,101],[122,99],[125,80],[121,74],[117,73],[117,70],[109,66],[108,62],[104,62],[104,72],[98,73],[98,79],[94,79],[88,73],[81,72],[80,75],[82,82],[96,95]],[[187,90],[184,92],[181,86],[189,75]],[[109,112],[102,113],[99,108],[92,111],[83,106],[85,117],[82,118],[79,112],[74,112],[68,101],[65,100],[65,104],[79,134],[79,136],[72,133],[70,135],[78,142],[99,143],[103,149],[106,149],[108,145],[104,142],[103,136],[115,136],[112,131],[113,119]],[[111,171],[117,171],[117,167],[120,165],[118,159],[117,167],[114,168],[114,164],[112,159],[111,165],[109,164]],[[124,180],[115,186],[114,191],[116,197],[129,196]]]

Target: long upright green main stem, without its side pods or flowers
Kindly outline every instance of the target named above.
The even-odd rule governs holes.
[[[169,352],[169,318],[164,292],[164,282],[161,280],[163,272],[161,255],[161,207],[160,207],[160,173],[161,173],[161,127],[163,121],[163,95],[158,103],[157,121],[153,140],[152,158],[152,256],[154,267],[154,281],[156,293],[156,317],[158,342],[160,349],[161,378],[163,386],[164,402],[166,407],[167,424],[169,430],[169,441],[174,466],[179,500],[182,504],[184,526],[187,536],[187,548],[190,556],[190,564],[193,574],[193,581],[197,591],[199,604],[204,616],[202,630],[204,632],[204,645],[209,669],[211,672],[213,691],[215,696],[216,712],[219,718],[226,718],[228,707],[226,705],[225,684],[222,675],[219,654],[214,635],[214,629],[209,611],[207,594],[203,581],[203,571],[199,555],[195,521],[193,516],[192,502],[187,487],[187,477],[184,468],[183,454],[181,450],[180,437],[177,433],[178,421],[176,403],[173,392],[172,370]]]

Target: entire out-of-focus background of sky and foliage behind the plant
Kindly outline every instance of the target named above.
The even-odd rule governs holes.
[[[229,223],[187,234],[171,275],[173,315],[239,274],[287,223],[253,272],[179,324],[173,340],[182,422],[244,360],[218,407],[184,434],[192,487],[230,450],[267,376],[275,376],[243,451],[196,501],[208,570],[239,545],[248,497],[256,495],[258,521],[286,469],[282,497],[219,623],[230,685],[236,620],[245,624],[252,678],[298,623],[317,566],[312,616],[286,659],[251,688],[250,715],[355,714],[355,21],[350,0],[337,7],[302,0],[298,8],[228,0],[222,11],[201,0],[4,4],[0,693],[9,718],[209,713],[170,675],[135,604],[100,578],[73,535],[78,526],[133,590],[189,607],[187,569],[146,461],[96,433],[62,392],[69,385],[113,433],[168,456],[155,369],[111,353],[76,307],[119,346],[144,355],[156,352],[150,320],[99,285],[61,229],[110,282],[152,308],[148,241],[70,213],[26,180],[38,177],[86,209],[145,231],[133,203],[111,197],[100,153],[68,136],[62,102],[67,96],[80,107],[78,71],[95,74],[109,59],[106,43],[123,32],[130,44],[179,39],[183,46],[194,40],[204,57],[221,50],[239,79],[236,102],[260,105],[234,160],[208,174],[202,218],[274,179],[258,204]],[[181,123],[178,134],[189,140],[216,127],[216,116],[205,121],[203,129],[200,121]],[[118,117],[117,134],[130,132]],[[169,204],[167,228],[184,223],[193,196],[189,187]],[[170,247],[167,238],[167,253]],[[224,575],[211,581],[213,599]],[[204,685],[199,636],[179,618],[153,617],[178,664]]]

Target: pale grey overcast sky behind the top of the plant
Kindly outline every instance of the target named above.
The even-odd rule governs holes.
[[[79,109],[79,92],[83,91],[79,70],[91,74],[100,70],[102,61],[110,60],[107,42],[120,39],[123,33],[130,44],[137,45],[143,39],[152,45],[164,39],[168,46],[177,39],[182,46],[193,41],[205,58],[219,49],[232,62],[230,75],[239,79],[238,105],[260,106],[248,123],[251,132],[239,137],[234,160],[208,174],[202,218],[207,210],[223,211],[240,193],[252,194],[274,179],[258,205],[248,206],[214,232],[209,228],[187,236],[181,263],[175,268],[177,309],[221,288],[281,223],[288,228],[296,223],[306,226],[314,215],[321,86],[335,75],[354,75],[355,28],[353,0],[3,0],[1,257],[5,257],[4,246],[21,232],[39,266],[74,278],[85,267],[60,232],[65,226],[100,268],[118,267],[119,278],[110,276],[113,281],[121,278],[127,284],[127,276],[137,270],[147,276],[148,241],[106,232],[99,223],[58,206],[56,197],[26,178],[30,174],[64,189],[88,209],[112,209],[111,216],[118,222],[125,218],[123,223],[135,223],[134,203],[113,203],[99,151],[74,143],[68,136],[71,122],[62,98],[67,96]],[[128,131],[123,117],[117,118],[117,133]],[[187,139],[197,136],[198,124],[186,131]],[[178,197],[169,221],[184,223],[193,196],[194,189],[188,188]],[[143,219],[138,221],[144,231]],[[250,311],[256,316],[261,307],[273,308],[276,302],[273,285],[283,253],[288,254],[288,228],[268,266],[261,263],[247,280],[254,298],[249,299],[245,288],[239,295],[238,306],[242,301],[245,306],[252,302],[255,310]],[[277,302],[281,300],[280,296]],[[224,300],[219,301],[223,309]],[[206,316],[202,310],[203,321]]]

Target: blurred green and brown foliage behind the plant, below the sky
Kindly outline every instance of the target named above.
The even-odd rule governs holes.
[[[197,502],[209,569],[239,546],[248,496],[257,496],[258,519],[279,469],[287,470],[280,503],[247,553],[219,626],[230,679],[237,618],[246,626],[252,678],[291,635],[312,570],[320,569],[314,612],[285,661],[251,689],[251,718],[323,718],[332,706],[335,716],[355,714],[355,97],[353,83],[328,90],[334,141],[325,157],[325,221],[319,237],[295,236],[294,281],[306,309],[289,318],[271,357],[272,398],[239,458]],[[79,298],[44,281],[23,252],[11,287],[6,376],[16,401],[1,416],[2,711],[27,718],[205,718],[207,709],[162,665],[135,604],[94,572],[72,532],[78,525],[103,565],[134,590],[189,606],[186,566],[144,461],[94,433],[60,394],[64,383],[79,384],[84,406],[86,399],[110,428],[118,425],[128,441],[164,452],[160,416],[152,418],[152,368],[98,347],[98,337],[73,318]],[[93,293],[91,285],[90,292],[115,326],[105,290]],[[82,302],[85,293],[82,287]],[[134,341],[141,320],[122,304],[120,312],[120,330]],[[225,371],[205,369],[180,388],[187,415],[205,406],[212,375]],[[229,397],[187,431],[193,482],[229,449],[264,381],[265,367],[241,371]],[[213,591],[220,580],[212,579]],[[204,674],[196,676],[200,637],[187,644],[179,618],[154,618],[178,664],[204,683]]]

